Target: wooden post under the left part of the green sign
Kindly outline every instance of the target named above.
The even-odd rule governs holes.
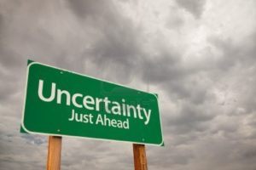
[[[49,136],[46,170],[61,169],[61,140],[59,136]]]

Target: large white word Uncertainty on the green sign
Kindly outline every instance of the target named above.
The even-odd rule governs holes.
[[[108,114],[141,119],[144,121],[145,125],[147,125],[150,120],[151,110],[147,111],[141,107],[141,105],[127,105],[125,104],[125,99],[122,99],[122,103],[120,104],[117,101],[108,100],[108,97],[101,99],[84,94],[70,94],[67,90],[57,89],[55,82],[51,83],[51,94],[49,97],[44,97],[43,88],[44,80],[39,80],[38,96],[45,102],[55,100],[57,104],[61,104],[62,98],[65,98],[65,105],[73,105],[77,108],[84,107],[84,109],[89,111],[101,111],[101,108],[103,108]],[[78,100],[80,100],[81,103],[79,103]]]

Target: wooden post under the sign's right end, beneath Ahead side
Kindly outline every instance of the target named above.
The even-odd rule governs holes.
[[[148,170],[145,144],[133,144],[135,170]]]

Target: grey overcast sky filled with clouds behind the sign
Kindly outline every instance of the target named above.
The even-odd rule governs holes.
[[[0,0],[0,169],[45,169],[19,133],[26,59],[159,94],[148,169],[255,170],[255,0]],[[131,144],[63,138],[61,168],[133,169]]]

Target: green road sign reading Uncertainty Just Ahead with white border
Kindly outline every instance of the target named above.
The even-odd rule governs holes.
[[[155,94],[38,62],[27,66],[26,133],[163,144]]]

